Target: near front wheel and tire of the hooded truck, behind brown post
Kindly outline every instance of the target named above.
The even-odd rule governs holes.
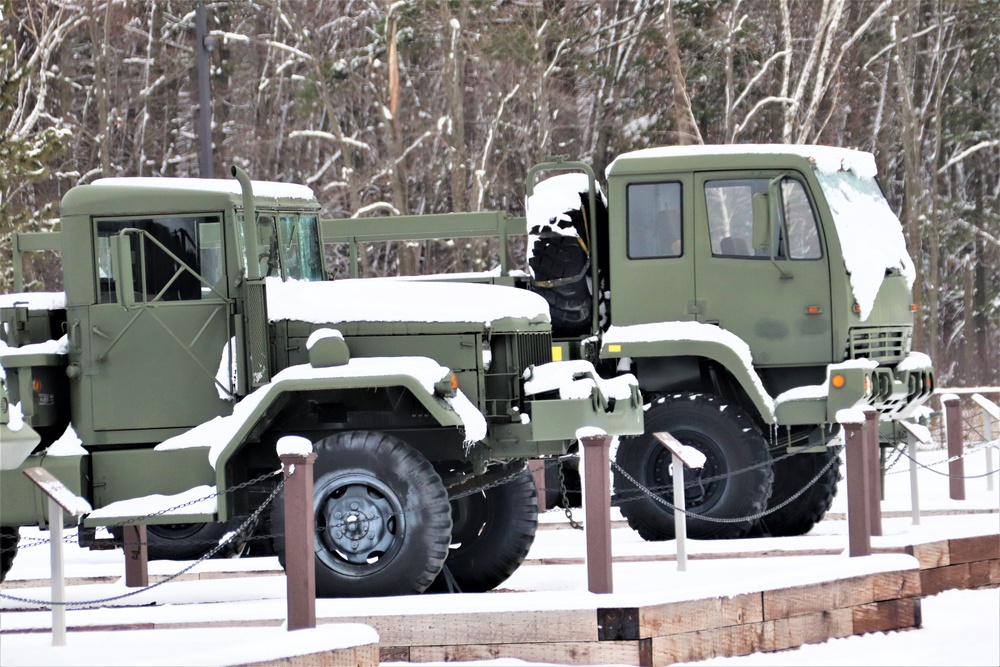
[[[315,451],[316,595],[423,592],[441,572],[451,541],[448,493],[438,473],[416,449],[383,433],[340,433],[316,443]],[[282,567],[284,510],[279,493],[271,523]]]

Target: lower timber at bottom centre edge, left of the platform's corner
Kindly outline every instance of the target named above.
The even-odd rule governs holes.
[[[592,641],[414,646],[410,649],[409,659],[410,662],[470,662],[516,658],[526,662],[570,665],[641,665],[640,643]]]

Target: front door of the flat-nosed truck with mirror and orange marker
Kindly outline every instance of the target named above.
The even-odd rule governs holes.
[[[826,364],[833,334],[825,244],[805,182],[785,175],[769,189],[778,176],[697,175],[698,319],[746,341],[755,365]],[[767,202],[771,238],[765,234],[768,247],[755,248],[754,195],[767,196],[769,190],[779,200]],[[758,217],[765,208],[757,207]],[[765,224],[758,220],[758,230]]]

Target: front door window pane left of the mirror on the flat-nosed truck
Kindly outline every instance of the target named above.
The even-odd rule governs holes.
[[[754,257],[753,196],[758,192],[767,192],[767,179],[705,183],[708,231],[714,256]]]

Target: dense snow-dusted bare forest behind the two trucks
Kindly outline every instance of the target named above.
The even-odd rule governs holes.
[[[200,175],[196,0],[0,0],[10,234],[105,176]],[[1000,0],[207,2],[213,169],[328,217],[507,210],[554,155],[686,143],[875,154],[917,266],[914,349],[1000,384]],[[372,246],[369,274],[482,270],[482,242]],[[336,250],[328,261],[344,261]],[[26,262],[30,289],[62,289]]]

